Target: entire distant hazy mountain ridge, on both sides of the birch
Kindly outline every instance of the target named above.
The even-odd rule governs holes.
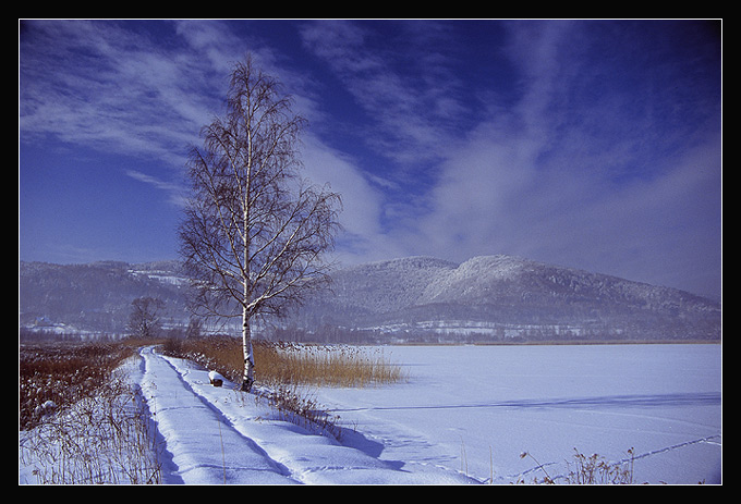
[[[166,304],[187,323],[177,261],[20,265],[21,325],[123,332],[131,302]],[[384,339],[719,340],[720,305],[693,294],[512,256],[463,263],[408,257],[341,268],[282,327]],[[341,332],[341,331],[340,331]]]

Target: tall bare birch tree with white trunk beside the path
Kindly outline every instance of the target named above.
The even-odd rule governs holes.
[[[242,390],[254,382],[251,323],[280,316],[329,280],[323,253],[339,230],[340,196],[300,176],[299,135],[280,84],[252,59],[231,74],[227,112],[202,130],[189,160],[192,196],[181,255],[199,315],[242,317]]]

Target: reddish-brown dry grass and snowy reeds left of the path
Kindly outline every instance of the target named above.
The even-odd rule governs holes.
[[[19,348],[20,459],[38,483],[157,483],[146,403],[119,368],[129,343]]]

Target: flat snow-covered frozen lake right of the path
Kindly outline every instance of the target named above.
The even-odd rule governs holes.
[[[632,447],[635,482],[720,482],[719,344],[393,346],[384,354],[409,371],[406,383],[315,395],[341,417],[345,444],[402,469],[444,466],[482,481],[493,475],[495,483],[530,482],[545,470],[563,481],[574,448],[618,462]]]

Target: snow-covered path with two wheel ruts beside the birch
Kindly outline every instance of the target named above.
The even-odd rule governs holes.
[[[162,445],[165,483],[463,484],[476,480],[444,467],[396,467],[330,437],[281,420],[255,397],[208,372],[141,351],[138,377]]]

